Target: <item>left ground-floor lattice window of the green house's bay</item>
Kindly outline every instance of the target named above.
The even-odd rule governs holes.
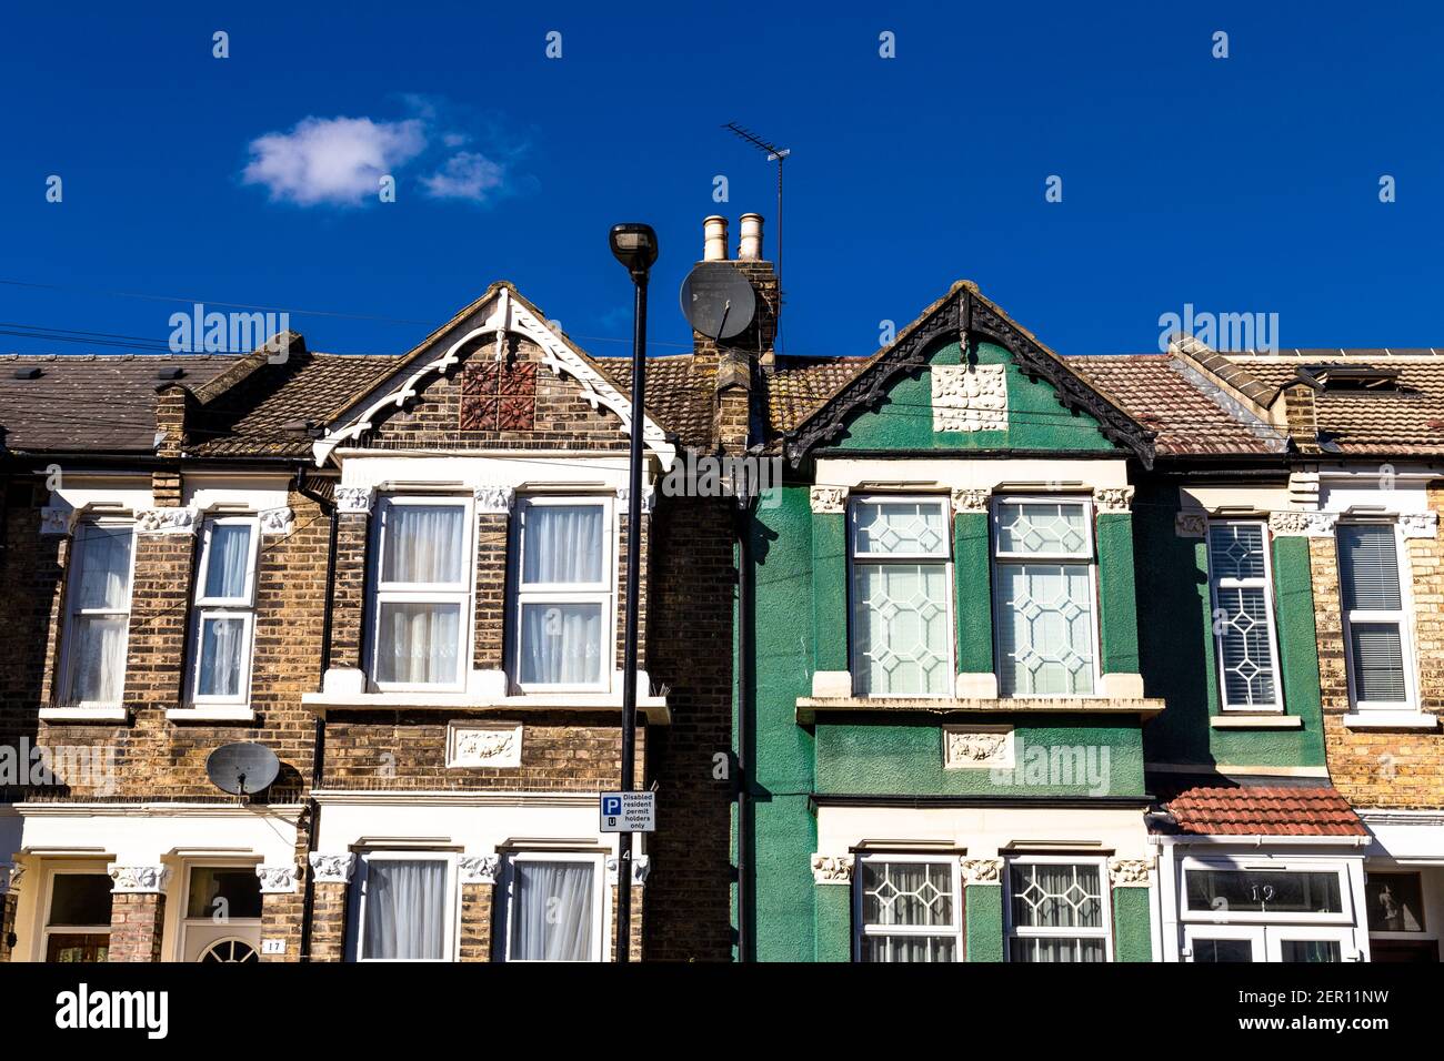
[[[960,961],[957,859],[869,855],[858,859],[853,924],[861,961]]]

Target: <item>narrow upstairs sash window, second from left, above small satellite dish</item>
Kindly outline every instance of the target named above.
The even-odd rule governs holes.
[[[248,515],[205,521],[192,621],[191,700],[245,703],[256,634],[257,523]]]

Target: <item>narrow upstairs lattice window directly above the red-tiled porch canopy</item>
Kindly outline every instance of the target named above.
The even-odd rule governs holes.
[[[1282,710],[1268,533],[1261,520],[1209,524],[1209,592],[1223,710]]]

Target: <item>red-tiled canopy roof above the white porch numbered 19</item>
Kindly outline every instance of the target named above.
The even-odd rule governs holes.
[[[1330,787],[1187,788],[1167,801],[1177,831],[1193,836],[1367,836]]]

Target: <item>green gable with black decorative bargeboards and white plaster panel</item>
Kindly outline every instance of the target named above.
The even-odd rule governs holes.
[[[1152,466],[1154,433],[967,281],[851,372],[784,436],[813,449],[1123,450]]]

